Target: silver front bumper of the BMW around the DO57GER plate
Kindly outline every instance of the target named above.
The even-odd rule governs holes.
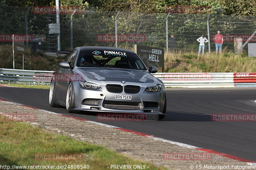
[[[85,89],[82,88],[78,81],[73,81],[74,96],[75,96],[75,108],[74,110],[84,111],[97,111],[107,113],[134,113],[134,114],[156,114],[163,115],[165,100],[164,87],[160,92],[147,92],[145,87],[141,87],[139,93],[121,93],[109,92],[105,85],[101,85],[100,89]],[[115,95],[130,95],[132,100],[115,99]],[[97,105],[82,104],[84,99],[96,99]],[[141,105],[140,109],[119,109],[119,108],[107,108],[103,107],[103,101],[116,101],[116,102],[138,102]],[[158,107],[150,107],[148,103],[158,103]]]

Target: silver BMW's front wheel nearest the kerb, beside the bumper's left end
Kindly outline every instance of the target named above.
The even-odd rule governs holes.
[[[74,97],[74,87],[73,83],[70,82],[68,85],[68,90],[67,90],[67,96],[66,96],[66,109],[68,113],[77,113],[76,110],[72,110],[75,108],[75,97]]]

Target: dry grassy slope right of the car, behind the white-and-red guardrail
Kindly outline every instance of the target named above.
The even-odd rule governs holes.
[[[165,72],[256,72],[256,57],[231,52],[221,55],[168,53],[164,61]]]

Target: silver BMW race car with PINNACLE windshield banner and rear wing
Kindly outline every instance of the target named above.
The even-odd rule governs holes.
[[[77,47],[67,54],[51,80],[51,107],[69,113],[97,111],[158,115],[166,113],[164,83],[150,73],[131,50],[112,47]]]

